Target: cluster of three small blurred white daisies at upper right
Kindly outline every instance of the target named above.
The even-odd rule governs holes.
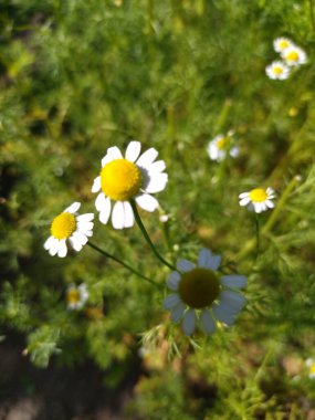
[[[290,76],[293,69],[297,69],[307,62],[305,51],[287,38],[277,38],[274,40],[273,46],[282,60],[275,60],[265,67],[266,75],[270,78],[283,81]]]

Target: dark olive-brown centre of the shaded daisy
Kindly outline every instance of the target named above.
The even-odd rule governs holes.
[[[178,291],[182,302],[200,309],[219,296],[220,282],[211,270],[197,267],[182,274]]]

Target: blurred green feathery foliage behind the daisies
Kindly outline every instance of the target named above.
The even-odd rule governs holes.
[[[22,332],[42,367],[53,355],[67,366],[92,358],[114,388],[144,346],[147,375],[126,418],[314,419],[304,365],[315,358],[312,1],[4,0],[0,10],[4,336]],[[276,82],[264,69],[281,35],[308,63]],[[209,140],[231,128],[240,157],[210,161]],[[232,328],[189,340],[169,324],[168,271],[136,227],[96,221],[94,242],[160,291],[88,248],[65,260],[43,250],[51,220],[71,202],[94,211],[106,148],[133,138],[167,162],[158,199],[170,220],[143,213],[161,252],[196,260],[206,245],[248,275],[248,305]],[[273,187],[281,202],[271,229],[271,212],[260,216],[259,255],[254,217],[238,200],[256,186]],[[66,286],[82,282],[87,308],[69,312]]]

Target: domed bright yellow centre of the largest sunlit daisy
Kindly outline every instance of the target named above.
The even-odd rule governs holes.
[[[140,169],[126,159],[115,159],[101,171],[102,190],[113,200],[129,200],[139,192],[141,181]]]

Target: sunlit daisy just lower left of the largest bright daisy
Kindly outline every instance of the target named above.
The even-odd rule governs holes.
[[[74,202],[54,218],[51,224],[51,237],[45,241],[44,249],[53,256],[64,258],[67,253],[66,240],[75,251],[81,251],[92,237],[93,213],[78,214],[81,203]]]

